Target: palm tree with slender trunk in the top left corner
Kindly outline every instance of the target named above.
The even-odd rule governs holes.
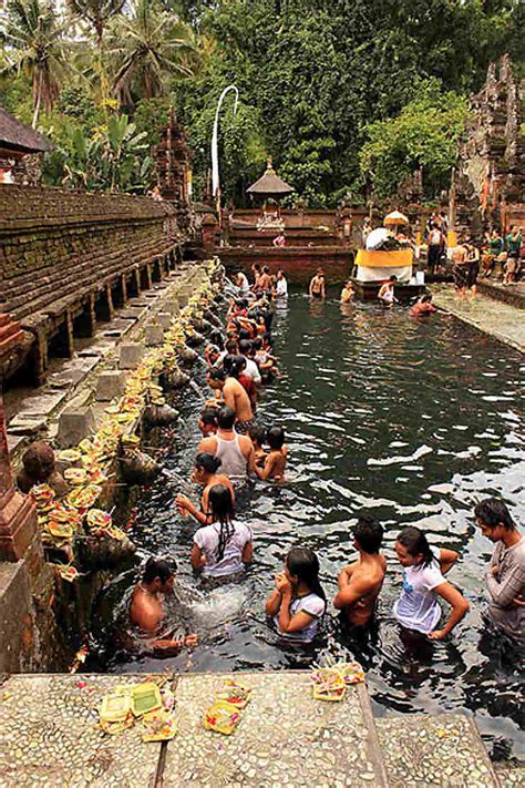
[[[0,20],[0,40],[6,44],[0,73],[23,73],[31,80],[33,129],[40,110],[51,110],[69,70],[65,24],[45,0],[10,0]]]

